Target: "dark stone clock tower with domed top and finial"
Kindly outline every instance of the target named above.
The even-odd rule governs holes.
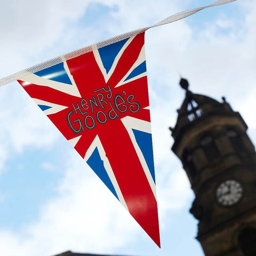
[[[195,200],[197,239],[206,256],[256,255],[256,154],[247,125],[226,99],[188,90],[172,131]],[[255,117],[252,117],[255,118]]]

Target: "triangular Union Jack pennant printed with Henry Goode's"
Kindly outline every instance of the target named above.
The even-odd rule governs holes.
[[[18,82],[160,247],[144,33]]]

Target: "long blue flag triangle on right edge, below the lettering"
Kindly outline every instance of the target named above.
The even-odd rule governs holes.
[[[140,150],[145,158],[145,161],[148,165],[148,169],[150,174],[156,183],[155,180],[155,168],[154,168],[154,159],[153,159],[153,145],[152,145],[152,136],[151,133],[138,131],[132,129],[133,134],[135,136],[135,140],[140,147]]]

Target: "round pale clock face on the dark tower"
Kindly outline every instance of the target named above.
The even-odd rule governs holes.
[[[218,186],[216,197],[218,203],[223,206],[236,204],[243,195],[243,188],[236,180],[225,180]]]

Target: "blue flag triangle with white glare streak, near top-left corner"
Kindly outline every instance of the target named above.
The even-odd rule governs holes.
[[[35,75],[45,79],[50,79],[52,81],[60,82],[60,83],[72,84],[64,68],[63,62],[57,65],[54,65],[50,68],[45,68],[41,71],[38,71],[35,73]]]

